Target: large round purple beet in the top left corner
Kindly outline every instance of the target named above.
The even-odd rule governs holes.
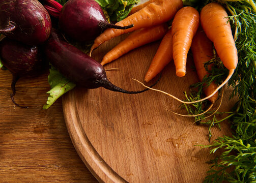
[[[29,45],[46,41],[51,31],[47,10],[37,0],[1,0],[0,33]]]

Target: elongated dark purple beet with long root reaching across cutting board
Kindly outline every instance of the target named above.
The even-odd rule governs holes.
[[[86,88],[104,87],[115,92],[127,94],[138,94],[148,90],[147,88],[131,92],[113,85],[107,79],[102,65],[78,48],[68,44],[56,29],[52,29],[43,50],[44,56],[52,66],[79,86]]]

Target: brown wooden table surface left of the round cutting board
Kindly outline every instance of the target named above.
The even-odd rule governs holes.
[[[10,99],[12,75],[0,70],[0,182],[97,182],[70,140],[58,99],[43,110],[48,73],[21,78]]]

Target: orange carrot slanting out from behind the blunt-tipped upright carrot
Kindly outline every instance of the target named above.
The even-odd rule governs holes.
[[[172,29],[164,35],[151,65],[145,75],[144,81],[149,82],[173,59]]]

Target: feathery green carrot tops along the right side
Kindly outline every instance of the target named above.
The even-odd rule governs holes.
[[[238,50],[238,66],[228,85],[233,89],[231,98],[237,97],[237,103],[231,111],[217,112],[226,113],[226,117],[219,118],[213,115],[211,119],[205,118],[207,114],[196,116],[195,121],[209,126],[209,139],[211,128],[218,126],[225,119],[231,123],[233,136],[217,138],[211,145],[203,145],[211,148],[210,153],[222,149],[220,157],[212,160],[212,166],[208,171],[205,182],[256,182],[256,6],[254,0],[236,1],[220,0],[214,1],[222,4],[229,13],[234,39]],[[198,5],[208,4],[208,1],[198,2]],[[198,6],[200,9],[200,6]],[[221,83],[226,77],[228,70],[225,69],[218,58],[213,58],[208,64],[214,63],[209,71],[210,75],[202,82],[194,84],[198,93],[186,94],[188,101],[200,99],[203,93],[203,83],[215,80]],[[206,67],[207,68],[207,67]],[[205,104],[206,102],[204,102]],[[203,103],[193,106],[186,105],[185,108],[191,114],[204,111]],[[209,113],[208,113],[209,115]]]

